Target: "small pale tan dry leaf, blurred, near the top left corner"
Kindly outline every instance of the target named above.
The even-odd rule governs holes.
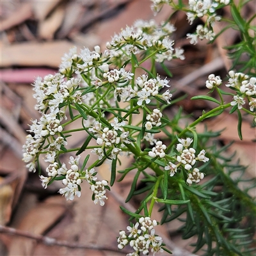
[[[63,18],[65,17],[65,8],[63,5],[56,10],[45,20],[38,24],[38,37],[51,40],[54,38],[54,33],[60,28]]]

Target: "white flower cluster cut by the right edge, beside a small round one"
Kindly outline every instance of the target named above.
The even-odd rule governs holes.
[[[234,88],[237,91],[237,95],[234,95],[234,100],[231,102],[231,106],[236,106],[238,109],[243,108],[245,104],[244,99],[248,99],[250,111],[256,109],[256,77],[249,77],[242,72],[234,72],[230,70],[228,72],[229,79],[226,84],[227,87]]]

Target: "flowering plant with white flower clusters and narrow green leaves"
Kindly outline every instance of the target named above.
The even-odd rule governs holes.
[[[212,26],[221,20],[216,10],[230,4],[237,15],[236,5],[227,0],[189,0],[189,6],[182,1],[179,4],[153,2],[154,12],[166,3],[176,10],[185,10],[190,24],[196,17],[206,17],[204,26],[198,26],[195,34],[188,34],[191,44],[196,44],[198,38],[214,40]],[[237,17],[234,20],[240,22]],[[58,73],[38,77],[35,81],[36,109],[42,116],[30,125],[24,161],[30,172],[39,170],[44,188],[54,180],[62,180],[60,194],[73,200],[75,196],[83,196],[81,183],[86,181],[90,184],[94,203],[103,206],[108,199],[107,190],[115,183],[120,156],[133,157],[131,166],[118,171],[122,174],[119,181],[133,171],[134,179],[126,202],[138,194],[145,198],[136,212],[121,207],[137,222],[127,227],[129,235],[120,231],[119,249],[129,244],[133,251],[128,255],[145,255],[150,250],[154,254],[163,250],[170,252],[156,234],[154,227],[159,223],[151,219],[157,203],[161,205],[159,211],[163,212],[161,223],[186,212],[182,232],[184,239],[198,236],[195,252],[206,244],[207,255],[242,255],[246,250],[243,239],[251,234],[251,230],[241,223],[243,211],[255,212],[255,203],[239,188],[240,180],[232,180],[230,175],[234,171],[243,172],[245,168],[230,163],[223,156],[225,148],[207,143],[220,132],[205,130],[200,134],[195,127],[205,118],[230,109],[230,113],[237,112],[238,133],[242,139],[241,111],[252,116],[255,122],[256,78],[252,76],[252,65],[247,67],[248,74],[230,70],[226,86],[234,93],[231,90],[227,93],[220,89],[221,77],[210,74],[205,86],[209,93],[217,92],[218,98],[198,95],[192,99],[209,100],[217,105],[216,108],[203,112],[185,128],[180,127],[181,110],[172,119],[165,111],[180,99],[172,99],[169,79],[161,77],[156,70],[156,63],[161,63],[170,76],[164,61],[184,60],[184,50],[175,47],[171,39],[174,31],[169,22],[157,25],[154,20],[137,20],[132,27],[114,35],[104,51],[99,46],[95,46],[94,51],[70,49],[63,56]],[[255,46],[255,40],[251,43]],[[148,69],[149,61],[151,67]],[[140,74],[139,70],[145,73]],[[233,100],[225,102],[223,95],[226,94],[232,95]],[[77,120],[81,128],[68,129],[68,125]],[[69,137],[78,131],[87,134],[83,145],[68,147]],[[164,136],[159,137],[159,134]],[[79,163],[83,152],[88,154],[83,163]],[[68,165],[62,163],[61,156],[70,153],[76,156],[70,156]],[[92,155],[97,159],[88,164]],[[42,156],[48,164],[44,175],[40,169]],[[99,180],[97,168],[106,161],[111,163],[110,180]],[[205,176],[208,179],[204,182]],[[141,189],[136,187],[139,180],[145,184]],[[217,186],[223,187],[221,193]],[[238,206],[243,211],[230,214]]]

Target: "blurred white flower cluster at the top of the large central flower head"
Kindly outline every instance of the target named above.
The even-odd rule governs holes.
[[[132,54],[139,54],[141,51],[159,51],[156,54],[156,61],[172,60],[180,58],[184,60],[183,49],[173,48],[173,40],[170,35],[175,31],[172,24],[162,22],[161,26],[156,24],[155,20],[136,20],[133,26],[126,27],[113,36],[107,47],[110,49],[113,58],[111,61],[124,60],[125,56],[129,60]]]

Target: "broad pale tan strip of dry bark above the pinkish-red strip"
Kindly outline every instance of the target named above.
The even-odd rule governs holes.
[[[41,3],[41,2],[36,2]],[[54,42],[24,42],[20,44],[1,44],[1,67],[18,66],[47,66],[57,68],[61,57],[74,44],[66,41]]]

